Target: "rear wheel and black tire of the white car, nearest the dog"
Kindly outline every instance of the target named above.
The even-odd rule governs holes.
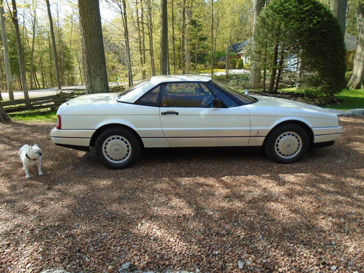
[[[107,128],[96,138],[95,153],[106,167],[125,169],[133,165],[139,157],[138,136],[127,128]]]

